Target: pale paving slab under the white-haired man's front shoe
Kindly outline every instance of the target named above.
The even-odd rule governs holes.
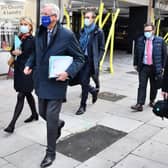
[[[17,168],[39,168],[44,155],[45,148],[36,144],[8,156],[5,159],[16,165]],[[74,168],[79,164],[80,162],[57,153],[56,160],[53,162],[53,165],[50,166],[50,168]]]

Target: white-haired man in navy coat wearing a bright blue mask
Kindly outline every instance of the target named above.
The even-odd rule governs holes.
[[[41,10],[41,23],[35,36],[35,52],[26,64],[25,74],[34,69],[35,91],[39,100],[39,113],[47,123],[47,150],[41,167],[52,164],[56,153],[56,140],[64,122],[59,120],[63,100],[66,99],[68,78],[73,78],[84,64],[84,55],[74,34],[59,23],[60,11],[55,4],[45,4]],[[50,56],[72,56],[69,68],[57,78],[48,78]]]

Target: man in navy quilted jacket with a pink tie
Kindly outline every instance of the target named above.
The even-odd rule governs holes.
[[[134,68],[138,71],[139,88],[137,104],[131,106],[135,112],[143,111],[146,99],[146,89],[148,79],[150,80],[150,101],[149,106],[153,107],[157,95],[156,78],[161,77],[165,58],[166,46],[161,37],[154,35],[153,24],[145,24],[144,36],[136,42],[134,55]]]

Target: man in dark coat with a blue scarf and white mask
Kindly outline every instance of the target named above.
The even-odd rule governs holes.
[[[89,85],[90,77],[96,83],[96,87],[99,87],[99,63],[104,53],[104,33],[94,23],[95,13],[93,11],[87,11],[85,13],[84,28],[80,33],[80,46],[85,55],[85,65],[80,71],[80,84],[82,87],[82,95],[80,107],[76,112],[76,115],[83,114],[86,111],[86,101],[88,93],[93,96],[92,103],[97,100],[97,94],[99,88],[94,88]]]

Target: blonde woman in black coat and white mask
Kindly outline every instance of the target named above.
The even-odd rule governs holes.
[[[33,23],[30,18],[24,17],[20,19],[20,35],[21,40],[20,48],[17,48],[15,43],[14,48],[11,51],[11,55],[15,58],[14,61],[14,89],[18,93],[17,103],[14,110],[14,115],[9,123],[8,127],[4,131],[13,133],[16,120],[22,112],[24,106],[24,99],[26,97],[27,102],[31,109],[31,116],[25,120],[25,122],[31,122],[38,120],[38,114],[35,107],[35,100],[32,95],[33,91],[33,79],[32,75],[25,75],[23,70],[27,59],[31,55],[34,49],[34,37],[32,36]]]

